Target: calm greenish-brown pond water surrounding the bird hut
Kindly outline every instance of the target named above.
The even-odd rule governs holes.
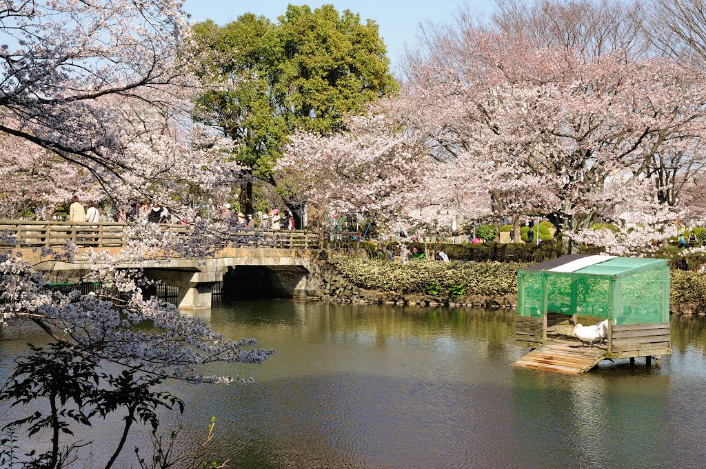
[[[659,366],[604,362],[565,375],[511,366],[527,350],[510,311],[266,300],[204,316],[229,338],[276,350],[265,364],[210,369],[254,384],[169,385],[186,402],[187,434],[217,417],[215,453],[232,468],[706,464],[706,321],[673,317],[674,355]],[[0,374],[26,342],[0,343]],[[96,441],[95,461],[117,437],[82,434]],[[145,439],[136,432],[121,467]]]

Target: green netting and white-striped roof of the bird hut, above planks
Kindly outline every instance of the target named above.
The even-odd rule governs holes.
[[[572,254],[517,273],[517,314],[576,315],[615,325],[669,322],[666,259]]]

